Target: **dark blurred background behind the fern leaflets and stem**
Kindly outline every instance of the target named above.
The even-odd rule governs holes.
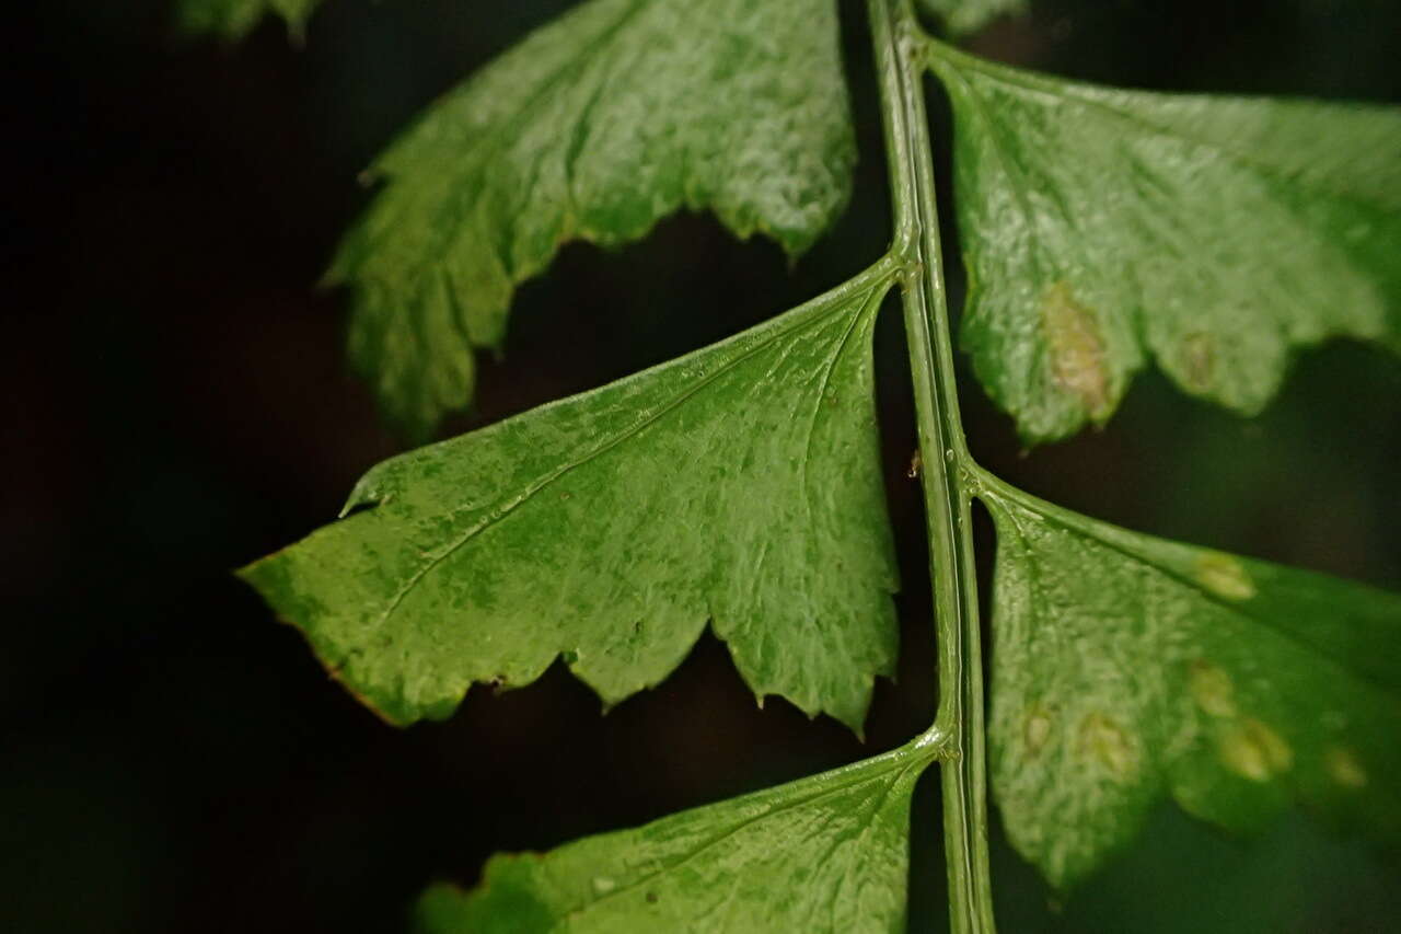
[[[356,172],[563,6],[328,0],[301,49],[275,21],[238,46],[178,42],[156,1],[7,14],[0,930],[395,931],[429,881],[471,884],[495,850],[794,778],[932,718],[895,314],[877,355],[904,655],[898,687],[877,689],[866,747],[776,698],[755,710],[710,637],[607,718],[556,666],[398,732],[228,575],[332,519],[356,477],[401,447],[346,373],[342,296],[314,287],[367,198]],[[736,243],[709,216],[619,252],[566,248],[521,289],[504,358],[485,362],[476,411],[448,431],[730,335],[878,255],[888,209],[860,6],[842,4],[862,164],[839,229],[792,271],[775,245]],[[1048,0],[974,46],[1149,88],[1401,100],[1401,4],[1388,0]],[[933,108],[943,133],[937,91]],[[1401,588],[1393,358],[1348,344],[1306,355],[1248,422],[1149,373],[1105,431],[1030,456],[971,381],[964,400],[979,459],[1034,492]],[[916,801],[916,931],[944,926],[934,791],[926,780]],[[1376,931],[1401,919],[1395,857],[1302,816],[1245,841],[1164,808],[1059,907],[996,827],[993,840],[1009,933]]]

